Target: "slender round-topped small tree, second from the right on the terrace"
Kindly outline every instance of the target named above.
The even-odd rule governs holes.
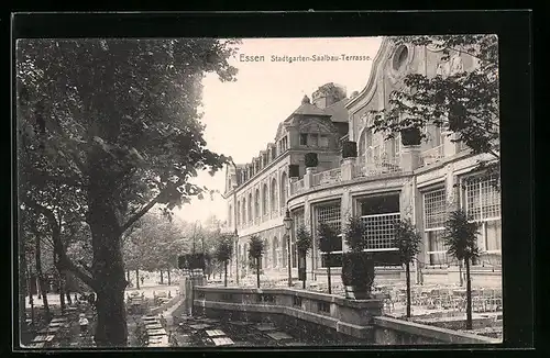
[[[395,223],[395,245],[399,253],[399,261],[405,265],[407,280],[407,318],[410,318],[410,262],[420,251],[420,234],[409,219]]]

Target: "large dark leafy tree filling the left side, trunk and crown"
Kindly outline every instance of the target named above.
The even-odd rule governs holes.
[[[42,188],[38,194],[20,190],[20,200],[48,217],[56,265],[96,292],[98,346],[127,345],[124,232],[155,205],[170,215],[189,197],[202,197],[206,188],[189,178],[198,170],[213,174],[228,160],[206,148],[198,108],[206,72],[217,72],[222,81],[234,79],[237,70],[227,60],[234,43],[16,43],[20,142],[23,152],[42,158],[40,166],[24,163],[30,156],[19,158],[37,175],[23,171],[20,180]],[[55,194],[61,195],[54,208]],[[59,215],[69,208],[89,225],[90,271],[73,262],[59,245],[66,223]]]

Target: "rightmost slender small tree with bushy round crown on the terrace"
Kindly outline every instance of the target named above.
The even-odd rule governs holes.
[[[443,236],[447,254],[458,260],[464,260],[466,267],[466,329],[472,329],[472,281],[470,262],[480,256],[477,235],[480,224],[469,220],[466,213],[459,209],[449,214]]]

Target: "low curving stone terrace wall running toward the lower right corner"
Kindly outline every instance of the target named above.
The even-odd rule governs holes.
[[[362,345],[492,344],[497,339],[382,316],[381,300],[294,289],[196,287],[195,314],[227,321],[271,322],[307,334]]]

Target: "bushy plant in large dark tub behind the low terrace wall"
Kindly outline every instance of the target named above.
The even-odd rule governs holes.
[[[365,227],[359,216],[350,216],[344,228],[344,242],[350,251],[343,254],[342,283],[345,287],[345,298],[365,300],[371,298],[374,281],[374,260],[365,251]]]

